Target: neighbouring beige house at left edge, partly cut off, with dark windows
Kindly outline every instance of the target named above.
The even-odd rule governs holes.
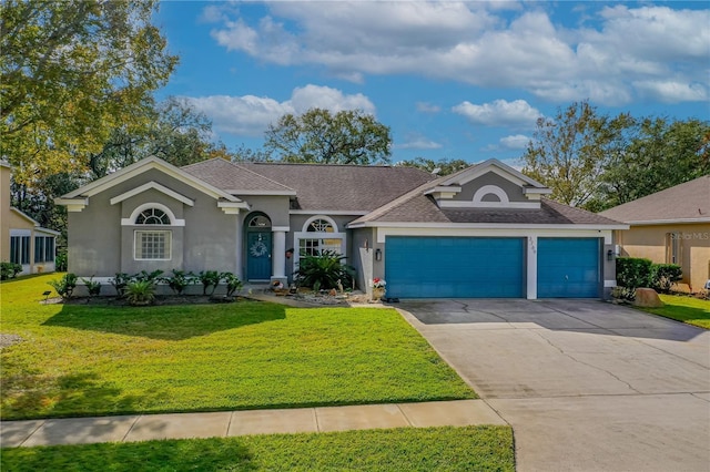
[[[10,206],[11,168],[0,163],[0,261],[22,265],[20,274],[54,271],[59,232],[42,228],[24,213]]]

